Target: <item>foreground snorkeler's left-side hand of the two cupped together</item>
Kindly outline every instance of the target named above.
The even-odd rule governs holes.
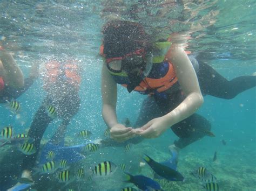
[[[124,142],[135,136],[132,128],[126,128],[123,124],[116,124],[110,129],[110,137],[116,142]]]

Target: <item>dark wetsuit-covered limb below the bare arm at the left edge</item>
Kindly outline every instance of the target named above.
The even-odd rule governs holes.
[[[0,103],[6,103],[6,100],[11,101],[12,99],[17,99],[21,96],[26,90],[32,86],[33,82],[36,80],[35,77],[28,77],[25,79],[24,87],[22,88],[11,88],[5,87],[0,98]]]

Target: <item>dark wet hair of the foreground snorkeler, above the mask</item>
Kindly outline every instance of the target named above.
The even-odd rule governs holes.
[[[125,56],[144,48],[149,36],[144,27],[135,22],[113,20],[103,28],[103,45],[106,58]]]

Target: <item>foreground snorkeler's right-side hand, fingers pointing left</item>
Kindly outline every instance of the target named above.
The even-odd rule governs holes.
[[[154,118],[141,128],[134,130],[134,133],[145,138],[159,137],[170,125],[166,122],[164,117]]]

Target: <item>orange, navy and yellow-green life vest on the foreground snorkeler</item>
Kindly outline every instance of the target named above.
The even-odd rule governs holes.
[[[168,41],[155,43],[155,47],[159,49],[158,53],[153,54],[152,68],[149,74],[140,82],[139,86],[134,88],[141,94],[157,94],[161,93],[173,86],[178,81],[176,73],[170,61],[166,61],[166,53],[171,43]],[[100,55],[105,57],[103,45],[100,47]],[[116,83],[127,87],[129,77],[124,71],[116,71],[110,68],[108,59],[106,59],[107,68],[113,76]]]

